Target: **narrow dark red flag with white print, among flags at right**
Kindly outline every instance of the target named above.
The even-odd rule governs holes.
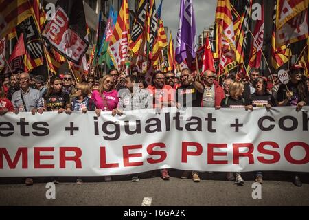
[[[262,3],[262,17],[255,24],[253,32],[253,43],[251,44],[251,50],[249,55],[249,67],[260,68],[262,59],[262,47],[264,41],[264,4]]]

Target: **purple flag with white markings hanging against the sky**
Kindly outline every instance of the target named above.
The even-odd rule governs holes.
[[[196,25],[192,0],[181,0],[179,28],[177,33],[176,61],[187,59],[191,65],[196,56]]]

